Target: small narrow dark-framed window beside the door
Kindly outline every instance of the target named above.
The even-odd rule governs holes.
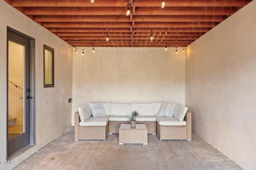
[[[54,87],[54,49],[44,45],[44,87]]]

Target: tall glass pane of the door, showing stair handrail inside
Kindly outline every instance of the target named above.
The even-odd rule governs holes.
[[[24,50],[8,41],[8,139],[25,132],[24,123]]]

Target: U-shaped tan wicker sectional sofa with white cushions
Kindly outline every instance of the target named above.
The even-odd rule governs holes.
[[[92,107],[95,104],[97,105],[96,109]],[[167,107],[163,107],[164,105]],[[172,109],[173,117],[161,115],[166,109],[169,112]],[[75,141],[82,139],[106,140],[108,134],[118,133],[121,123],[130,123],[128,118],[134,110],[140,114],[136,117],[136,123],[146,124],[148,133],[158,135],[160,140],[183,139],[190,141],[191,113],[187,112],[187,109],[187,107],[176,103],[172,103],[172,105],[170,103],[169,105],[166,103],[88,103],[79,107],[74,114]]]

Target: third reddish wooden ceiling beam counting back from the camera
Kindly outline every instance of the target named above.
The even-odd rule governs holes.
[[[146,22],[221,22],[228,16],[141,16]],[[115,22],[118,16],[34,16],[36,22]],[[130,22],[127,16],[120,16],[117,22]],[[140,16],[132,21],[142,22]]]

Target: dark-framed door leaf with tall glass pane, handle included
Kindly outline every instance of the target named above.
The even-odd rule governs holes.
[[[30,40],[8,31],[7,155],[30,144]]]

